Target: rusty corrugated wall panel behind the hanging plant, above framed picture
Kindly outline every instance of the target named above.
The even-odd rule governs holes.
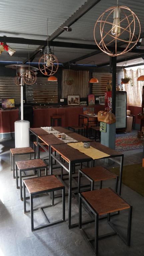
[[[80,95],[80,98],[86,98],[88,94],[89,71],[62,71],[62,98],[66,98],[67,95]]]

